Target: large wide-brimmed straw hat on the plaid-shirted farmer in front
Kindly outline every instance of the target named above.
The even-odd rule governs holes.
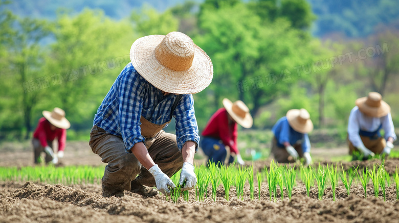
[[[137,39],[130,48],[130,61],[145,80],[168,93],[198,93],[213,77],[211,59],[180,32]]]

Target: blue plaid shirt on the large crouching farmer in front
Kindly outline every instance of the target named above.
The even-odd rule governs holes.
[[[138,142],[144,142],[141,135],[140,117],[157,125],[169,121],[170,110],[176,95],[164,96],[158,88],[148,83],[133,67],[127,64],[108,91],[93,124],[107,133],[122,136],[125,151]],[[194,115],[194,100],[191,94],[184,94],[173,111],[176,120],[176,140],[179,150],[186,141],[194,141],[198,149],[197,121]]]

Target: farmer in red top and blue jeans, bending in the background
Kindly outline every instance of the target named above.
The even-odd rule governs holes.
[[[235,157],[241,165],[245,164],[237,148],[237,123],[251,128],[253,120],[248,107],[242,101],[232,103],[223,99],[224,108],[217,110],[202,132],[201,148],[209,161],[224,164],[234,162]]]

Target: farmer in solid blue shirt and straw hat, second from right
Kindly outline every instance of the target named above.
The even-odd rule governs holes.
[[[306,109],[291,109],[273,126],[271,153],[276,162],[290,163],[304,158],[305,165],[311,164],[311,143],[307,135],[313,130],[310,117]]]

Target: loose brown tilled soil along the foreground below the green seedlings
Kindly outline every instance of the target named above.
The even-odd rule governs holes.
[[[143,197],[125,192],[121,198],[101,196],[100,185],[38,185],[32,182],[3,182],[0,184],[0,222],[393,222],[399,219],[399,202],[393,186],[387,188],[387,201],[382,194],[374,197],[368,185],[367,199],[363,188],[352,186],[351,195],[341,186],[333,202],[331,187],[327,187],[323,200],[317,199],[317,187],[306,196],[303,185],[294,188],[292,200],[286,194],[271,202],[267,185],[261,187],[258,200],[237,199],[235,189],[230,191],[230,201],[224,199],[223,186],[217,192],[217,201],[210,198],[190,201],[181,198],[174,204],[164,195]],[[209,188],[210,189],[210,188]]]

